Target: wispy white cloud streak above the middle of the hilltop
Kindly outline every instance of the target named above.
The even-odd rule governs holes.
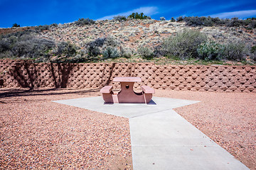
[[[117,13],[111,16],[104,16],[102,18],[99,18],[98,20],[105,20],[105,19],[112,19],[114,16],[129,16],[132,13],[144,13],[146,16],[150,16],[153,14],[158,13],[158,8],[156,6],[147,6],[147,7],[141,7],[141,8],[136,8],[132,11],[127,11],[124,13]]]

